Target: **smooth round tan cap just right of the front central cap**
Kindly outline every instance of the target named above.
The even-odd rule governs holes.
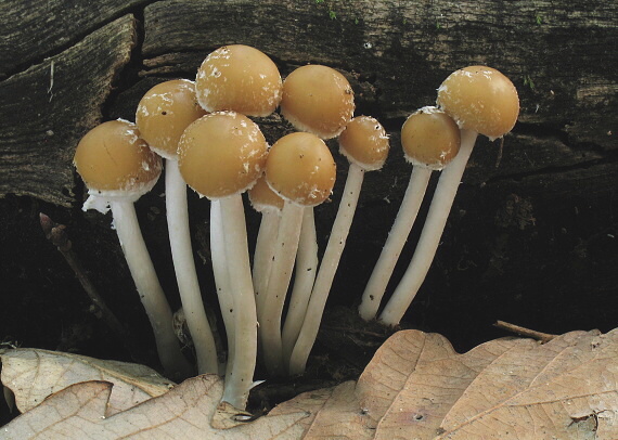
[[[296,132],[276,141],[268,154],[266,179],[286,200],[302,206],[324,202],[335,184],[336,165],[324,141]]]

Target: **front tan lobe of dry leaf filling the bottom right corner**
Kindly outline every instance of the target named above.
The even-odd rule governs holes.
[[[567,333],[513,350],[471,384],[441,438],[617,439],[617,331]]]

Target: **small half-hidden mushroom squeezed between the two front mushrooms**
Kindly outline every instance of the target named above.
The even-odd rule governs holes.
[[[256,308],[259,321],[268,289],[272,259],[274,258],[274,244],[279,231],[281,210],[283,209],[283,198],[270,189],[263,176],[248,191],[248,195],[254,209],[261,213],[253,267]]]

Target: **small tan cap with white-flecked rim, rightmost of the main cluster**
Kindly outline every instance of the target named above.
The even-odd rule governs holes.
[[[357,116],[339,134],[342,154],[365,170],[381,169],[389,147],[384,127],[371,116]]]

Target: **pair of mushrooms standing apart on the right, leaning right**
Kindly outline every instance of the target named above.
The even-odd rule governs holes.
[[[487,66],[469,66],[449,75],[438,88],[436,103],[437,107],[425,107],[410,116],[401,130],[401,143],[407,158],[414,163],[415,169],[443,168],[443,171],[438,180],[412,260],[384,310],[377,316],[385,325],[399,324],[429,271],[478,133],[487,135],[490,140],[501,138],[513,129],[519,114],[519,98],[515,86],[502,73]],[[410,215],[411,221],[405,225],[404,235],[410,232],[416,217],[417,205],[426,189],[425,180],[428,177],[426,172],[422,174],[425,178],[416,185],[419,192],[411,187],[408,190],[416,194],[411,196],[416,200],[410,203],[414,207]],[[413,180],[414,172],[411,181]],[[405,198],[408,195],[407,192]],[[396,235],[400,216],[407,215],[405,198],[389,238]],[[396,249],[390,248],[388,242],[383,249],[359,307],[359,312],[365,320],[375,318],[392,266],[401,251],[402,241],[405,240],[404,235],[398,236],[400,244],[394,245]],[[387,261],[384,264],[382,264],[383,259]]]

